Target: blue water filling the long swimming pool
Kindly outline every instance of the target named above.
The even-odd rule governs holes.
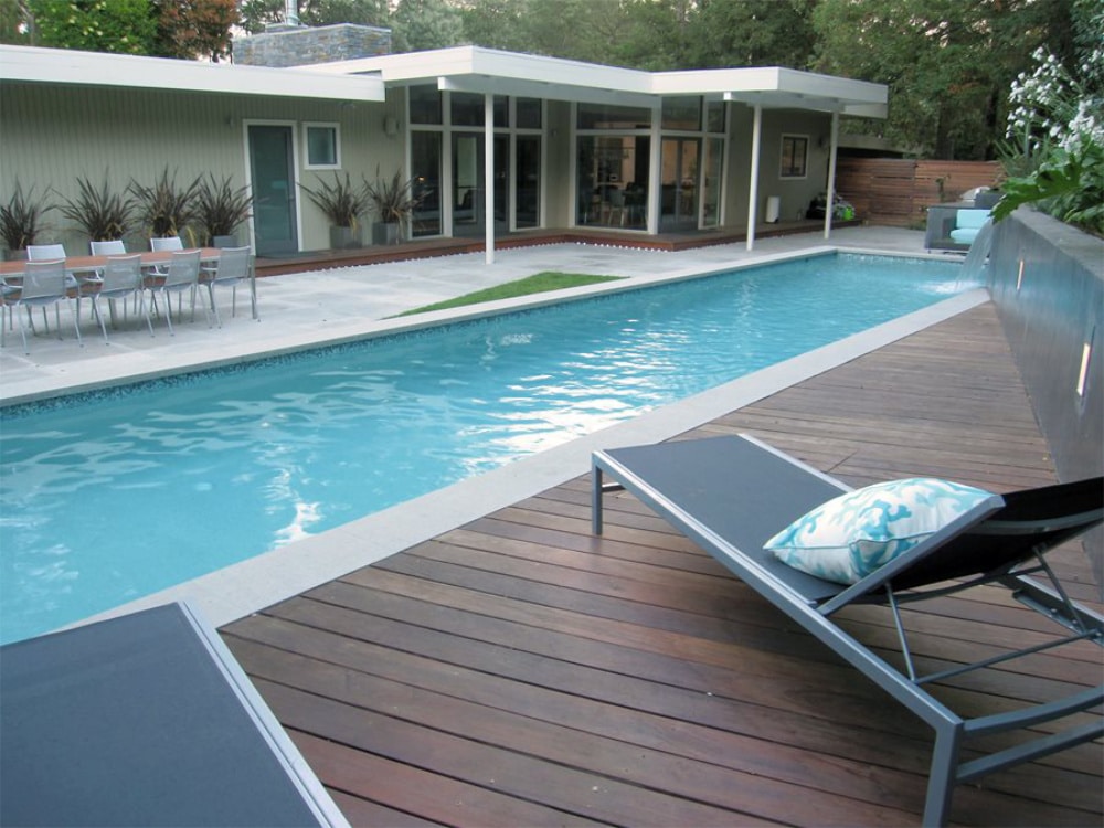
[[[916,310],[954,262],[820,256],[0,412],[0,641]]]

